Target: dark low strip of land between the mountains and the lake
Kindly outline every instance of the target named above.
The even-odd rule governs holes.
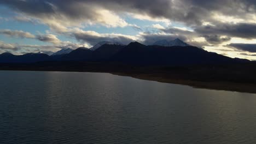
[[[102,63],[0,64],[0,70],[110,73],[195,88],[256,93],[256,64],[200,67],[135,67]]]

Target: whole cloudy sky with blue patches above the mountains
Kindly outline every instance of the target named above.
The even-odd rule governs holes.
[[[0,53],[175,38],[256,60],[256,0],[0,1]]]

